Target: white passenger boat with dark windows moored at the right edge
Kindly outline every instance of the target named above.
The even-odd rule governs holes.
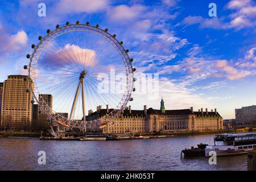
[[[205,148],[205,156],[212,156],[210,151],[215,151],[217,156],[247,154],[256,148],[255,133],[228,133],[216,135],[214,145]]]

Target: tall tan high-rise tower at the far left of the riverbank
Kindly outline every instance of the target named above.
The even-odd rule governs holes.
[[[33,82],[28,76],[10,75],[3,82],[1,127],[4,130],[28,131],[32,125]]]

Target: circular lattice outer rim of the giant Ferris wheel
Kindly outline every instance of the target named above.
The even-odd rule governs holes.
[[[34,78],[34,79],[31,78],[32,63],[35,60],[38,61],[39,57],[40,57],[40,54],[42,53],[42,51],[41,51],[38,54],[38,49],[40,48],[40,46],[42,46],[42,44],[44,42],[46,42],[46,40],[48,38],[51,38],[51,36],[57,34],[57,32],[61,32],[61,31],[65,30],[65,32],[62,32],[62,34],[67,34],[69,32],[72,32],[72,31],[68,31],[69,29],[73,30],[74,28],[84,28],[88,32],[95,31],[95,32],[98,33],[97,35],[101,34],[101,36],[104,37],[105,40],[108,40],[109,43],[113,42],[112,46],[115,46],[115,48],[116,49],[118,48],[119,51],[120,51],[120,52],[118,51],[118,53],[122,57],[122,61],[125,64],[125,70],[126,70],[126,79],[127,79],[126,90],[125,90],[125,93],[123,93],[123,97],[122,97],[121,101],[119,101],[119,103],[116,106],[116,108],[114,108],[113,111],[110,112],[109,114],[104,115],[104,117],[116,117],[117,115],[121,114],[122,109],[125,108],[125,106],[127,105],[127,103],[129,102],[129,100],[131,98],[131,93],[133,92],[133,88],[134,88],[134,71],[133,71],[133,66],[131,64],[131,59],[130,59],[128,53],[127,53],[127,50],[122,46],[122,42],[119,42],[116,39],[115,34],[114,35],[109,34],[107,29],[106,30],[102,30],[100,27],[92,26],[90,24],[66,24],[65,26],[56,28],[53,31],[49,31],[48,32],[48,30],[47,30],[48,34],[46,36],[44,36],[44,38],[41,37],[41,39],[39,39],[40,42],[34,47],[32,56],[30,57],[30,64],[29,64],[29,68],[28,68],[28,77],[30,78],[31,81],[34,81],[35,89],[38,90],[38,87],[36,86],[36,78]],[[81,30],[77,29],[77,30],[73,30],[73,31],[82,31],[82,29]],[[60,36],[62,34],[59,34],[57,36]],[[108,36],[106,36],[106,35],[108,35]],[[53,38],[53,39],[55,39],[55,38]],[[48,43],[51,42],[53,39],[49,40]],[[39,55],[39,57],[37,59],[35,59],[35,55]],[[36,74],[36,73],[34,73],[34,74]],[[32,92],[32,95],[33,95],[34,99],[39,104],[39,99],[36,97],[35,91],[33,91],[33,89],[32,89],[32,84],[30,85],[30,89],[31,89],[31,92]],[[39,90],[38,90],[38,94],[40,94]],[[44,100],[43,100],[43,102],[46,103]],[[42,106],[40,106],[40,107],[42,107]],[[52,114],[49,114],[48,110],[43,109],[43,111],[48,115],[49,118],[51,118],[53,120],[56,119],[57,117],[65,119],[65,123],[70,123],[72,121],[77,120],[77,119],[68,119],[68,118],[65,118],[65,117],[63,117],[62,115],[59,115],[59,114],[56,115],[56,113],[57,113],[56,111],[51,109],[48,105],[47,105],[47,107],[48,107],[47,108],[48,110],[52,111],[52,113],[55,113],[55,117],[53,117]],[[94,120],[90,120],[90,121],[86,121],[86,122],[93,122],[93,121],[97,122],[99,119],[100,118],[94,119]],[[85,123],[85,125],[86,125],[86,123]]]

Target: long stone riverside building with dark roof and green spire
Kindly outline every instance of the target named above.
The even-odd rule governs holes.
[[[101,109],[89,111],[87,119],[101,118],[104,123],[108,120],[108,115],[113,109]],[[193,111],[191,109],[166,110],[163,99],[160,110],[144,106],[143,110],[131,110],[127,107],[118,118],[114,118],[113,124],[104,127],[104,133],[150,133],[156,131],[184,132],[184,131],[213,131],[223,129],[223,119],[216,109],[208,111],[203,109]]]

